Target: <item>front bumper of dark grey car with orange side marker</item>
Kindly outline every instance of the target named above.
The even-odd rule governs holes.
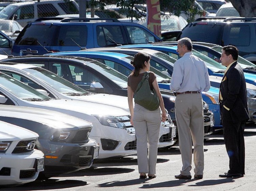
[[[37,147],[44,152],[43,173],[46,176],[90,168],[99,152],[99,146],[94,140],[79,144],[38,139]]]

